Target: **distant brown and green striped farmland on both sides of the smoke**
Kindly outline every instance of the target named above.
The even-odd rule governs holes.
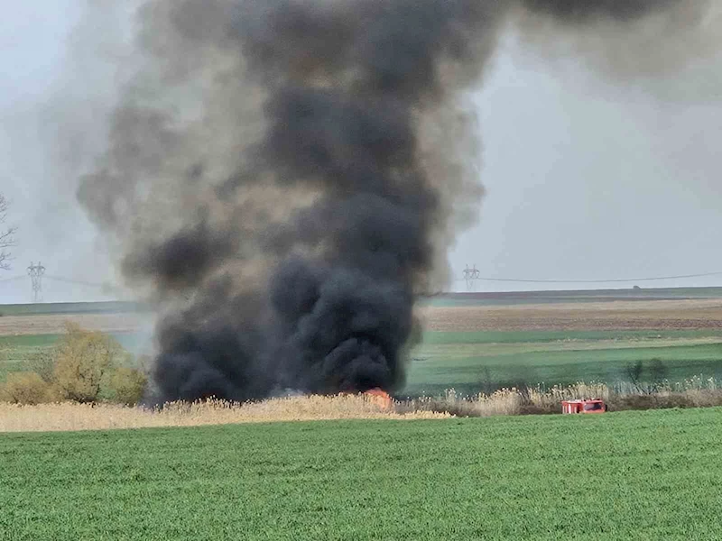
[[[627,379],[635,362],[653,359],[662,362],[656,376],[670,381],[722,378],[720,295],[718,288],[626,289],[426,299],[419,308],[423,343],[412,352],[407,385],[399,394],[438,394],[450,387],[471,394],[579,380],[614,383]],[[5,314],[27,312],[0,317],[0,381],[8,371],[23,370],[32,354],[62,333],[68,319],[112,333],[134,352],[143,347],[147,352],[152,317],[128,306],[0,307]]]

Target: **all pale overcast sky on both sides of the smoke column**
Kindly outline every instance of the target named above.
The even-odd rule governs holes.
[[[78,3],[0,2],[0,192],[12,200],[10,223],[19,228],[14,268],[0,271],[2,304],[30,300],[29,280],[7,279],[31,261],[79,281],[102,282],[110,271],[73,189],[60,197],[47,189],[68,174],[55,169],[54,143],[79,153],[88,144],[53,130],[59,91],[79,71],[98,69],[92,61],[69,69],[66,61]],[[92,96],[90,80],[88,95],[76,97]],[[597,75],[582,60],[550,62],[510,37],[475,100],[487,195],[478,224],[449,252],[458,278],[467,264],[501,279],[722,271],[722,62],[632,84]],[[91,105],[88,115],[98,114]],[[722,275],[654,285],[722,285]],[[97,288],[53,280],[44,289],[51,301],[104,298]],[[477,283],[477,290],[510,289],[582,286]]]

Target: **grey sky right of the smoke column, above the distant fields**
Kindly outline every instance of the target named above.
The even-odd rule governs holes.
[[[722,63],[633,86],[509,45],[477,103],[488,193],[454,268],[544,280],[722,271]],[[478,289],[510,286],[541,288]]]

